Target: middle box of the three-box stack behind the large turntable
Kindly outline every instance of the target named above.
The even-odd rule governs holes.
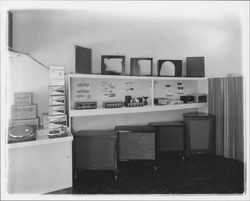
[[[12,119],[34,119],[36,118],[36,105],[12,105]]]

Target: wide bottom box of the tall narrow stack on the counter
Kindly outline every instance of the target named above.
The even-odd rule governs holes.
[[[44,129],[56,129],[67,126],[67,115],[45,116],[43,119]]]

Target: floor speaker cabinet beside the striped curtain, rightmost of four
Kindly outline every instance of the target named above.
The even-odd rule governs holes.
[[[215,117],[207,113],[183,115],[186,133],[186,155],[192,153],[214,154]]]

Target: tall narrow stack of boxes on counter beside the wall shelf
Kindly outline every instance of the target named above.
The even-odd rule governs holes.
[[[49,113],[43,117],[44,129],[59,129],[67,126],[65,114],[64,67],[50,67]]]

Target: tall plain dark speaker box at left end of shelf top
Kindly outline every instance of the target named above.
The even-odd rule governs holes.
[[[92,50],[89,48],[75,46],[75,72],[91,74]]]

